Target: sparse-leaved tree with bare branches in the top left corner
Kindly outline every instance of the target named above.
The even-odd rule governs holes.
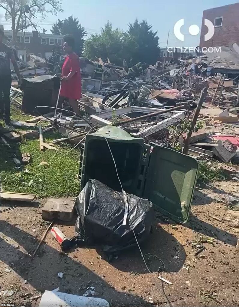
[[[59,0],[0,0],[0,7],[5,10],[5,19],[12,22],[13,45],[19,31],[28,27],[37,30],[36,18],[44,20],[49,13],[63,12]]]

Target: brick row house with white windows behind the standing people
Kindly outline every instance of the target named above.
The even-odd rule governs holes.
[[[5,36],[12,44],[12,31],[4,30]],[[32,32],[18,32],[16,43],[14,45],[18,52],[19,59],[23,61],[29,60],[30,54],[48,58],[52,55],[52,51],[56,48],[62,49],[63,35]]]

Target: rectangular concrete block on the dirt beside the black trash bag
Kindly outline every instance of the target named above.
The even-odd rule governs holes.
[[[49,198],[42,208],[42,219],[71,221],[74,214],[74,203],[73,198]]]

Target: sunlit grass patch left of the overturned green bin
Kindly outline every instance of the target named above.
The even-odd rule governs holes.
[[[26,121],[30,116],[21,114],[21,110],[12,106],[11,119]],[[16,130],[20,131],[21,128]],[[58,133],[48,132],[44,134],[44,142],[50,143],[61,137]],[[0,143],[0,180],[4,191],[35,194],[38,198],[78,195],[79,149],[63,144],[55,145],[59,151],[40,151],[39,139],[23,140],[22,143],[14,142],[10,145],[11,148]],[[13,157],[21,160],[22,153],[26,152],[30,153],[31,162],[17,167]],[[42,161],[48,165],[42,165]]]

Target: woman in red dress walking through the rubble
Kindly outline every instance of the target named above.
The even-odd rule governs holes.
[[[63,51],[67,54],[62,66],[62,81],[60,95],[69,99],[75,113],[79,113],[77,99],[81,98],[81,72],[80,61],[73,52],[75,40],[71,35],[64,37]]]

